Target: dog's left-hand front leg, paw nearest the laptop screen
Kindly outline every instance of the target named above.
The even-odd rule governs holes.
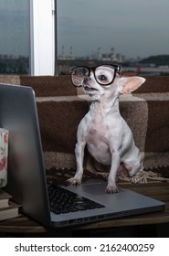
[[[72,186],[81,184],[81,179],[83,176],[83,158],[84,158],[84,143],[77,143],[75,148],[77,171],[75,176],[69,178],[69,184]]]

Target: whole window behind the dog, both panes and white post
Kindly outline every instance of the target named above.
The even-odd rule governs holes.
[[[156,55],[152,69],[168,73],[168,9],[168,0],[0,0],[0,73],[54,75],[87,60],[130,66]]]

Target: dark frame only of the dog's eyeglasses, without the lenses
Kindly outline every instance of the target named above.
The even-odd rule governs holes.
[[[110,68],[114,69],[114,75],[113,75],[113,78],[112,78],[111,82],[109,82],[108,84],[105,84],[105,85],[102,84],[100,81],[98,81],[98,80],[96,79],[96,76],[95,76],[95,70],[96,70],[97,68],[101,67],[101,66],[107,66],[107,67],[110,67]],[[70,78],[71,78],[72,84],[73,84],[75,87],[82,87],[82,85],[79,85],[79,86],[78,86],[78,85],[75,85],[75,84],[73,83],[73,80],[72,80],[72,73],[73,73],[73,70],[78,69],[78,68],[85,68],[85,69],[88,69],[88,70],[89,70],[88,76],[84,76],[84,78],[85,78],[85,77],[88,77],[88,78],[89,78],[89,77],[90,77],[90,72],[92,71],[92,72],[93,72],[93,75],[94,75],[94,79],[97,80],[97,82],[98,82],[101,86],[108,86],[108,85],[110,85],[110,84],[115,80],[117,71],[121,71],[121,66],[116,65],[116,64],[100,64],[100,65],[97,65],[97,66],[95,66],[95,67],[88,67],[88,66],[83,66],[83,65],[74,67],[73,69],[70,70]]]

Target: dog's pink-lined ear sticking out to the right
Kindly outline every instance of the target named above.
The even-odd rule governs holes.
[[[131,93],[137,90],[145,81],[142,77],[128,77],[120,79],[121,93]]]

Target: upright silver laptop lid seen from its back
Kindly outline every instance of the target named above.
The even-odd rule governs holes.
[[[50,225],[46,174],[35,93],[32,88],[0,84],[0,127],[9,130],[6,190],[24,212]]]

